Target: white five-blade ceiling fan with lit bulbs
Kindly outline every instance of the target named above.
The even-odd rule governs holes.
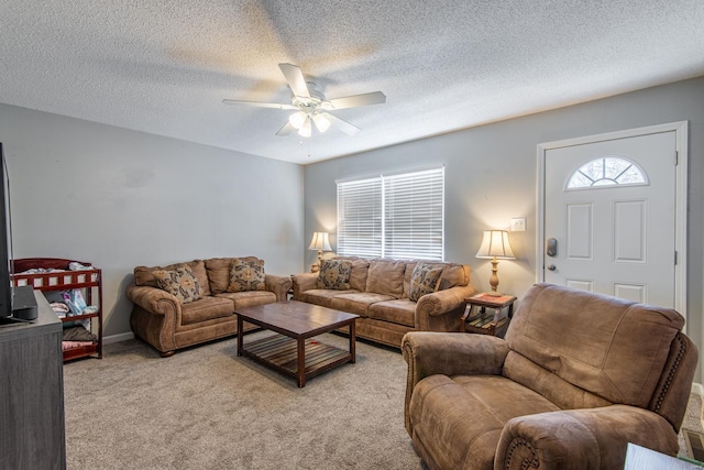
[[[304,138],[312,134],[312,125],[320,132],[327,131],[331,125],[348,135],[360,132],[360,128],[348,121],[331,114],[329,111],[356,108],[367,105],[381,105],[386,102],[386,96],[381,91],[362,95],[352,95],[343,98],[326,99],[324,95],[316,89],[316,84],[306,81],[302,72],[296,65],[278,64],[284,77],[292,90],[290,105],[261,101],[241,101],[237,99],[223,99],[226,105],[253,106],[257,108],[274,108],[297,111],[288,118],[288,122],[276,132],[276,135],[288,135],[295,130]]]

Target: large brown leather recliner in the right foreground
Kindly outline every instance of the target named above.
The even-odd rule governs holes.
[[[409,332],[406,429],[430,469],[620,469],[669,455],[697,362],[675,310],[532,286],[506,339]]]

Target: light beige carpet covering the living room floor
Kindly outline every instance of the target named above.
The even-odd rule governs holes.
[[[167,359],[108,345],[102,360],[65,364],[64,382],[69,470],[425,469],[404,428],[406,362],[365,342],[355,364],[304,389],[238,358],[235,339]],[[701,406],[693,395],[686,428],[702,430]]]

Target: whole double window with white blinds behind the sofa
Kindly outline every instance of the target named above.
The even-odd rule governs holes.
[[[338,183],[338,254],[443,260],[444,168]]]

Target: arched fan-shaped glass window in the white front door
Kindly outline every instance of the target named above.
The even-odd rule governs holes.
[[[646,172],[636,163],[620,156],[602,156],[575,170],[568,178],[566,189],[647,184]]]

